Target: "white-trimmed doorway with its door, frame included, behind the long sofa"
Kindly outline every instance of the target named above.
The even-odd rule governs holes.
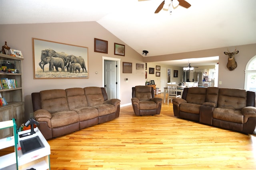
[[[108,99],[118,99],[120,97],[120,59],[102,57],[102,60],[103,87]]]

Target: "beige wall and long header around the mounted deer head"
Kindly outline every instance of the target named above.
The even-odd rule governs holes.
[[[256,55],[256,44],[249,45],[237,45],[236,49],[239,53],[236,55],[237,68],[233,71],[229,71],[226,67],[228,62],[227,55],[224,55],[224,51],[227,51],[228,47],[208,49],[202,51],[192,51],[188,53],[178,53],[171,55],[161,55],[154,57],[145,57],[144,62],[157,62],[167,60],[179,60],[201,57],[214,57],[219,56],[219,73],[218,81],[222,81],[222,84],[218,84],[220,88],[244,88],[244,70],[248,61]],[[230,47],[232,49],[232,47]]]

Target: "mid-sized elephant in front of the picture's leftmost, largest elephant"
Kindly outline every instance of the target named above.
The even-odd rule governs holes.
[[[43,72],[44,72],[44,65],[46,65],[46,64],[50,64],[49,65],[49,72],[53,72],[53,67],[55,67],[56,68],[56,71],[59,71],[58,70],[58,67],[60,67],[61,68],[61,71],[65,71],[64,70],[64,67],[65,67],[65,60],[64,60],[64,58],[62,58],[62,57],[46,57],[46,58],[44,58],[43,59],[43,61],[42,61],[42,64],[43,64],[43,66],[42,66],[42,69],[43,69]]]

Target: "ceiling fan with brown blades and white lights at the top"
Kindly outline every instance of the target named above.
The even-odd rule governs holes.
[[[175,7],[177,7],[178,5],[183,6],[184,8],[189,8],[191,5],[186,2],[185,0],[164,0],[159,6],[158,8],[156,8],[155,13],[160,12],[160,10],[162,10],[163,8],[168,10],[168,8],[171,8],[171,5]]]

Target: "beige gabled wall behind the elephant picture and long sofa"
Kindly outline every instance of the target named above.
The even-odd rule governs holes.
[[[33,79],[32,37],[88,47],[88,79]],[[94,38],[108,41],[108,54],[94,52]],[[23,87],[25,101],[25,119],[33,112],[31,93],[48,89],[65,89],[71,87],[103,86],[102,56],[120,60],[120,100],[121,104],[131,102],[132,86],[144,85],[144,70],[136,70],[136,63],[143,63],[142,55],[131,49],[123,41],[104,29],[97,22],[45,23],[0,25],[0,44],[4,41],[12,49],[22,51]],[[114,55],[114,43],[125,45],[125,56]],[[2,46],[1,45],[1,46]],[[122,73],[122,62],[132,64],[133,74]],[[95,72],[98,74],[95,74]],[[128,83],[124,81],[128,78]]]

